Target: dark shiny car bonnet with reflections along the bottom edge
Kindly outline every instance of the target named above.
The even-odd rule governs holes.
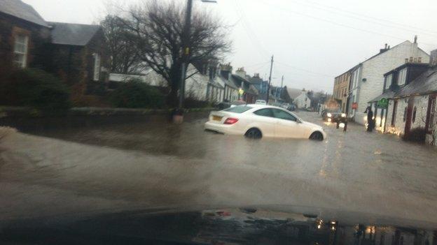
[[[1,241],[74,241],[87,244],[380,244],[431,245],[437,232],[394,225],[347,224],[317,215],[267,209],[216,209],[155,214],[132,211],[88,217],[84,221],[42,223],[38,231],[15,222],[4,227]],[[67,227],[67,229],[65,228]],[[69,232],[65,232],[69,230]],[[142,242],[142,243],[141,243]]]

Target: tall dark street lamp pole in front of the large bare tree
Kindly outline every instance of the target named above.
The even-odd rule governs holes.
[[[216,0],[200,0],[204,3],[217,3]],[[188,0],[187,9],[185,13],[185,25],[183,27],[182,33],[182,65],[181,65],[181,84],[179,87],[179,105],[176,114],[173,116],[173,121],[176,123],[181,123],[183,121],[183,99],[185,97],[185,77],[186,68],[190,61],[190,29],[191,29],[191,13],[193,12],[193,0]]]

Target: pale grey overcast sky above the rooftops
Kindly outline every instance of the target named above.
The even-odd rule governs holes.
[[[91,24],[104,14],[105,0],[23,0],[48,21]],[[123,1],[123,0],[120,0]],[[127,3],[137,0],[125,0]],[[176,0],[185,2],[185,0]],[[217,0],[195,1],[227,22],[234,70],[272,83],[331,92],[333,79],[379,52],[419,36],[419,47],[437,49],[436,0]]]

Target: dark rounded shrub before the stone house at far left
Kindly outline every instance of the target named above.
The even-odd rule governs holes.
[[[67,86],[57,77],[35,68],[16,70],[3,84],[6,105],[28,106],[43,112],[65,112],[71,106]]]

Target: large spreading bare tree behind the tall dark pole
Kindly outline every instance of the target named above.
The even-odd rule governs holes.
[[[156,73],[167,80],[168,103],[176,105],[181,79],[182,37],[185,7],[174,1],[151,1],[132,6],[124,20],[137,54]],[[190,64],[205,59],[219,59],[230,51],[228,28],[207,12],[193,11],[189,33]],[[186,77],[188,78],[188,77]]]

